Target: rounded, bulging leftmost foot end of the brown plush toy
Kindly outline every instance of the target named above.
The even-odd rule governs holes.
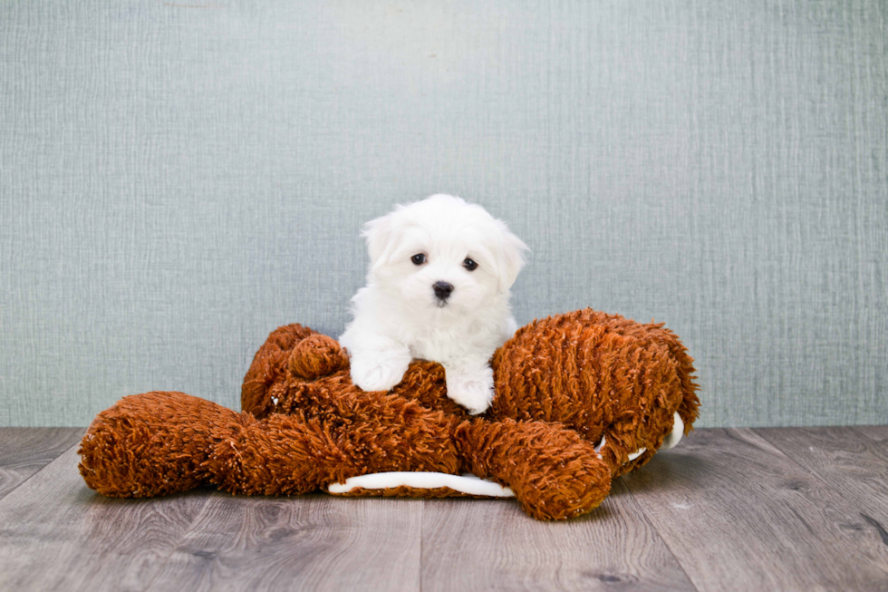
[[[83,436],[80,471],[102,495],[143,498],[190,490],[209,477],[202,464],[216,437],[240,415],[185,393],[123,397]]]

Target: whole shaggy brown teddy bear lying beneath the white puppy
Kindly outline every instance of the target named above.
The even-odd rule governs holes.
[[[243,412],[184,393],[124,397],[84,435],[83,479],[114,497],[201,485],[514,495],[534,518],[565,519],[690,432],[700,404],[676,335],[591,309],[534,321],[500,347],[496,396],[480,416],[447,397],[439,364],[414,361],[388,393],[354,386],[348,364],[330,337],[280,327],[246,374]]]

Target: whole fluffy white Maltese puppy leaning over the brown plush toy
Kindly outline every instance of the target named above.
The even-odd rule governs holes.
[[[473,414],[493,400],[497,347],[517,328],[509,288],[527,246],[477,204],[433,195],[368,222],[367,286],[339,338],[352,382],[388,391],[410,360],[444,366],[447,394]]]

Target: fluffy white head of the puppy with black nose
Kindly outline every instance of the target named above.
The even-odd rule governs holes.
[[[465,313],[507,295],[527,249],[487,210],[449,195],[397,206],[363,236],[372,279],[416,312]]]

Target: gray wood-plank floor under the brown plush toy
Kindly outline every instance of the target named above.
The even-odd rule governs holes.
[[[593,514],[508,500],[110,500],[80,429],[0,429],[0,590],[888,590],[888,426],[698,430]]]

